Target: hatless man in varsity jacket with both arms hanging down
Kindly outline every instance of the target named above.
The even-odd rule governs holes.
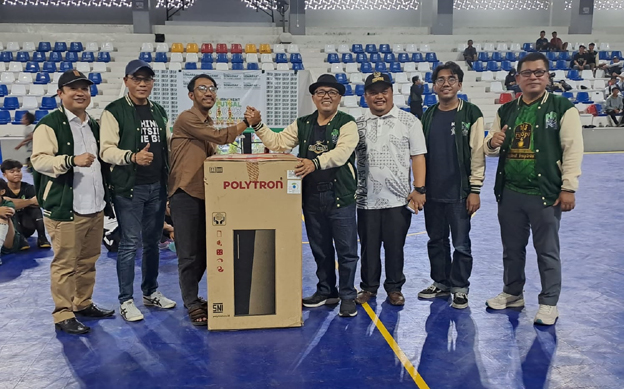
[[[427,109],[423,132],[427,140],[427,202],[425,226],[433,284],[420,298],[453,293],[453,308],[468,307],[472,272],[470,217],[480,207],[479,193],[485,175],[483,114],[457,97],[464,72],[454,62],[433,71],[434,90],[440,102]],[[453,259],[449,232],[453,242]]]

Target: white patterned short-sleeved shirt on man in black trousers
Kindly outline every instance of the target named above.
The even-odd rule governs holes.
[[[357,207],[386,209],[405,206],[412,191],[411,157],[427,153],[420,120],[395,105],[384,116],[366,111],[356,123],[360,135],[355,149]]]

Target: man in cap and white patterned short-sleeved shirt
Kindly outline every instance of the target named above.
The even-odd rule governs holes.
[[[394,105],[387,74],[375,72],[366,78],[364,98],[370,110],[357,120],[362,290],[356,302],[364,304],[377,295],[383,244],[388,302],[403,305],[403,246],[412,212],[418,213],[425,204],[427,147],[420,120]],[[411,182],[410,167],[414,176]]]

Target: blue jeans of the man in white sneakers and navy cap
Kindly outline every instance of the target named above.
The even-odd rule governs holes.
[[[143,243],[141,290],[144,296],[149,296],[158,289],[158,243],[165,220],[166,187],[160,182],[137,185],[132,194],[132,198],[116,196],[114,199],[121,230],[117,253],[120,303],[133,298],[134,260],[140,242]]]

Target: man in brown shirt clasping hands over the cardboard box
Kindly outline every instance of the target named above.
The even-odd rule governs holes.
[[[182,112],[173,125],[169,205],[176,228],[178,273],[184,306],[193,325],[206,325],[207,305],[198,296],[198,285],[206,271],[206,209],[204,205],[204,160],[214,154],[216,144],[232,143],[250,124],[217,129],[210,109],[217,99],[217,83],[200,74],[188,84],[193,107]],[[258,119],[258,122],[260,120]]]

